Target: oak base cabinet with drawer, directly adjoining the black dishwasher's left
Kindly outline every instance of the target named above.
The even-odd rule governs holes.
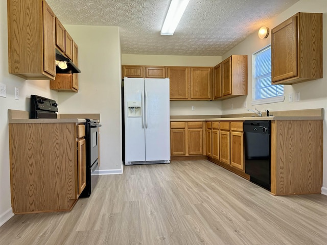
[[[230,165],[245,170],[243,122],[230,122]]]

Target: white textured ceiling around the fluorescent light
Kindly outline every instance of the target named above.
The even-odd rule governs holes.
[[[120,27],[123,54],[221,56],[298,0],[190,0],[173,36],[160,35],[170,0],[46,2],[63,24]]]

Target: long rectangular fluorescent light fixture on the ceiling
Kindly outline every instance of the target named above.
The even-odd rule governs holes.
[[[188,6],[190,0],[172,0],[166,15],[164,24],[162,25],[161,35],[173,35],[176,27],[182,17],[186,6]]]

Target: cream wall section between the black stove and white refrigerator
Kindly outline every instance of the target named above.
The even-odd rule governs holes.
[[[118,27],[64,25],[78,44],[79,91],[58,93],[60,113],[100,113],[100,174],[122,171]]]

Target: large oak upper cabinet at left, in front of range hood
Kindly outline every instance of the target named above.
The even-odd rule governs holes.
[[[56,16],[42,0],[8,0],[9,73],[54,80]]]

